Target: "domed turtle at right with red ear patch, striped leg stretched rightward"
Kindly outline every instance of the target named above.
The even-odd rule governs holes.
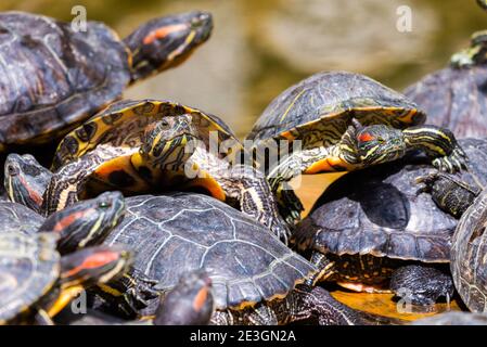
[[[410,150],[424,150],[441,170],[460,170],[465,159],[454,136],[425,119],[415,103],[367,76],[322,72],[277,97],[246,139],[257,156],[271,153],[264,156],[271,189],[282,215],[296,221],[300,203],[282,182],[299,174],[350,171]]]

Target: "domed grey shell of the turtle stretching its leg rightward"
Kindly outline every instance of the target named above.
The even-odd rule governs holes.
[[[290,140],[310,133],[323,138],[323,144],[330,145],[338,142],[353,117],[363,125],[389,124],[401,129],[425,120],[425,114],[413,102],[369,77],[325,72],[312,75],[277,97],[247,138]]]

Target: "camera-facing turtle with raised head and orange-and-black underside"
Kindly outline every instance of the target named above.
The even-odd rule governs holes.
[[[246,158],[215,115],[171,101],[120,101],[61,141],[41,209],[49,215],[90,191],[204,190],[286,242],[290,231],[266,177]]]

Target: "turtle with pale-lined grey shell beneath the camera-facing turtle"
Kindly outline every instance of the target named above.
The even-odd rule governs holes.
[[[321,287],[299,285],[316,268],[254,219],[210,196],[139,195],[126,203],[124,221],[104,244],[131,245],[133,268],[158,281],[154,288],[163,296],[183,273],[204,269],[213,283],[214,324],[284,324],[309,318],[321,324],[370,322]],[[137,282],[137,275],[132,281]],[[115,308],[125,305],[113,295],[118,287],[104,287],[98,293],[105,303]],[[194,298],[193,292],[187,293],[188,299]],[[138,313],[152,316],[155,310],[149,305]],[[178,322],[192,318],[183,316]]]

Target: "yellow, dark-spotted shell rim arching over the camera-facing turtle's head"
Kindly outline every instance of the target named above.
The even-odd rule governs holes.
[[[205,144],[209,145],[210,131],[218,133],[218,142],[228,139],[238,142],[230,128],[215,115],[171,101],[126,100],[111,104],[69,132],[57,146],[52,169],[59,169],[100,144],[138,150],[148,125],[161,120],[163,117],[183,114],[192,116],[193,124],[202,130],[200,140]]]

